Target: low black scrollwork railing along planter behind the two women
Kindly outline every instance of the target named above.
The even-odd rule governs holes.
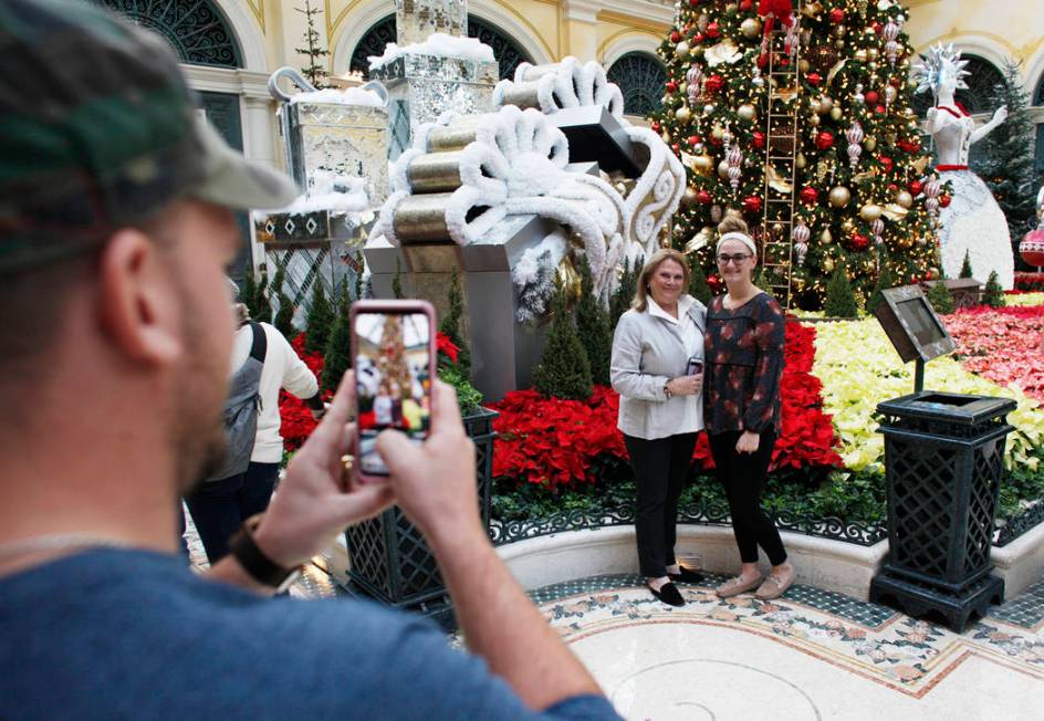
[[[802,516],[790,513],[770,514],[776,526],[783,531],[803,533],[810,536],[871,546],[888,537],[888,530],[878,524],[849,523],[835,518]],[[700,501],[683,509],[678,514],[678,522],[692,525],[729,525],[728,505],[723,501]],[[501,521],[490,519],[489,532],[495,545],[505,545],[551,535],[566,531],[585,531],[616,525],[634,525],[634,508],[598,510],[573,510],[552,513],[535,519]]]

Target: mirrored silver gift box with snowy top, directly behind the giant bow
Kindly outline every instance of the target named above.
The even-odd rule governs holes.
[[[370,71],[388,88],[388,159],[410,147],[424,123],[446,111],[461,115],[488,113],[500,80],[495,62],[406,53]]]

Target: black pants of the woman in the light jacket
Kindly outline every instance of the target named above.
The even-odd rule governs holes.
[[[692,464],[696,437],[697,433],[681,433],[645,440],[624,436],[638,490],[635,519],[638,567],[646,578],[666,576],[667,566],[675,564],[678,497]]]

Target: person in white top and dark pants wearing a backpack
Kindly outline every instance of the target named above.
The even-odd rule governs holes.
[[[239,289],[228,282],[234,299]],[[185,498],[210,563],[228,554],[232,534],[243,521],[264,512],[272,498],[283,459],[280,389],[305,400],[316,420],[324,412],[315,375],[285,336],[268,323],[251,321],[244,304],[234,307],[239,330],[225,405],[228,451],[225,463]]]

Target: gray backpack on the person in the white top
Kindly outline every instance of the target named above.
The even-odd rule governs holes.
[[[225,401],[225,432],[228,435],[228,451],[225,463],[208,481],[220,481],[238,476],[250,464],[253,441],[258,433],[258,411],[261,410],[261,368],[268,352],[268,338],[260,323],[250,323],[253,343],[250,355],[232,376],[228,400]]]

